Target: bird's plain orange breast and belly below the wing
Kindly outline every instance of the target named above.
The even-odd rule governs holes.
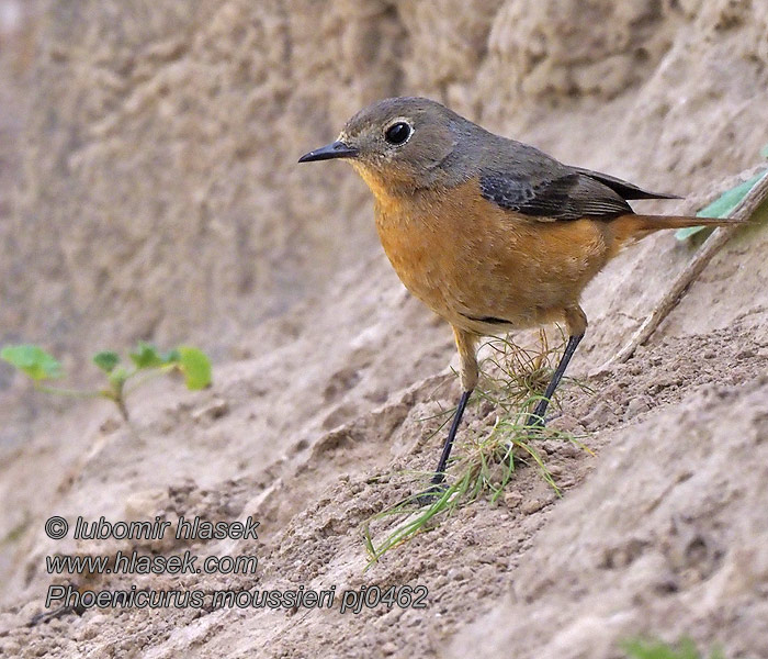
[[[602,222],[541,222],[486,201],[477,181],[376,196],[376,228],[403,283],[452,324],[481,334],[500,319],[534,326],[578,303],[608,259]]]

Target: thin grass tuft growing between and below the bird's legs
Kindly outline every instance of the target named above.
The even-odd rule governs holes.
[[[496,503],[520,465],[535,466],[542,478],[560,495],[560,489],[537,444],[543,439],[562,440],[587,451],[589,449],[571,433],[551,427],[533,429],[524,425],[530,407],[541,400],[540,392],[546,387],[555,358],[564,346],[563,342],[552,348],[543,332],[540,342],[539,349],[523,349],[507,339],[495,338],[488,342],[489,356],[481,361],[483,378],[473,404],[490,402],[498,410],[496,422],[489,431],[465,434],[460,457],[450,465],[450,484],[429,505],[420,505],[421,496],[414,494],[362,524],[365,549],[371,559],[369,566],[389,549],[432,528],[441,517],[450,516],[461,505],[467,505],[484,495],[490,503]],[[574,380],[568,382],[584,387]],[[556,401],[553,403],[556,404]],[[445,417],[434,432],[439,432],[452,415],[453,410],[444,410],[429,417]],[[419,479],[423,476],[426,474],[418,474]],[[376,544],[372,526],[393,516],[403,520]]]

